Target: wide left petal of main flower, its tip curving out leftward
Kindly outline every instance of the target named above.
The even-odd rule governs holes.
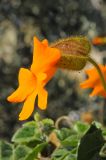
[[[28,69],[21,68],[19,71],[19,87],[7,100],[10,102],[22,102],[33,92],[35,87],[35,77]]]

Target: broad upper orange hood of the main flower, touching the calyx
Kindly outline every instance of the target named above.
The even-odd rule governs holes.
[[[55,65],[60,58],[60,51],[50,48],[47,40],[40,42],[34,37],[34,52],[31,71],[36,75],[39,72],[46,72],[51,66]]]

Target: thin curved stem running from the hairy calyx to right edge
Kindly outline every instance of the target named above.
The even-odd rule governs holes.
[[[105,81],[105,79],[104,79],[104,75],[103,75],[103,73],[102,73],[99,65],[98,65],[91,57],[88,58],[88,61],[91,62],[91,63],[95,66],[95,68],[96,68],[96,70],[98,71],[98,74],[99,74],[99,76],[100,76],[100,79],[101,79],[101,82],[102,82],[102,84],[103,84],[103,87],[104,87],[104,89],[106,90],[106,81]]]

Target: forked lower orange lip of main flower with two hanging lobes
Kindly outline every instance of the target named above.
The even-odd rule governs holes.
[[[23,109],[19,115],[19,120],[25,120],[29,118],[29,116],[32,114],[34,110],[34,102],[36,99],[36,96],[38,95],[38,105],[41,109],[45,109],[47,106],[47,91],[43,89],[43,81],[46,78],[46,74],[39,73],[37,75],[37,83],[36,88],[34,89],[33,93],[29,95],[25,102]]]

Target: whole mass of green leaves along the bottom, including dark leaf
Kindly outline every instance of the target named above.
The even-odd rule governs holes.
[[[38,114],[37,114],[38,115]],[[56,128],[52,119],[26,122],[12,137],[0,141],[0,160],[105,160],[106,129],[93,122]]]

